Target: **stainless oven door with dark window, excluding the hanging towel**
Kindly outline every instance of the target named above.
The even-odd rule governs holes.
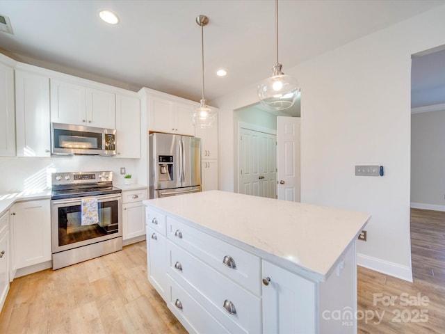
[[[82,199],[51,200],[52,253],[122,237],[122,194],[95,196],[98,223],[82,224]]]

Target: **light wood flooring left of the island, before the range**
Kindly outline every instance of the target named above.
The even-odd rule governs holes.
[[[16,278],[0,333],[187,333],[147,280],[145,241]]]

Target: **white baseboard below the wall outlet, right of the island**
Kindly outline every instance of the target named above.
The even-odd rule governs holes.
[[[357,253],[357,265],[412,282],[412,269],[394,262]]]

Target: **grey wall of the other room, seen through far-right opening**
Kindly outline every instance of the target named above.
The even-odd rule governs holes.
[[[411,116],[411,206],[445,211],[445,110]]]

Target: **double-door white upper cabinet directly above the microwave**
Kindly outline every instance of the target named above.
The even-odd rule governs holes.
[[[115,94],[51,78],[51,122],[115,128]]]

